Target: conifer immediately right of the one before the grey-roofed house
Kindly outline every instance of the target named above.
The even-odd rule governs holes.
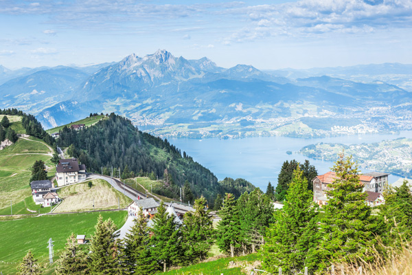
[[[181,253],[181,230],[174,217],[166,212],[163,201],[153,219],[152,238],[150,239],[151,255],[156,261],[163,264],[163,272],[170,265],[179,261]]]

